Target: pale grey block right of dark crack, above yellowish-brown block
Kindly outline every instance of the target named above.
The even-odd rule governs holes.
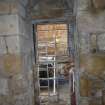
[[[19,36],[8,36],[6,37],[6,43],[8,46],[9,53],[19,53],[20,52],[20,41]]]

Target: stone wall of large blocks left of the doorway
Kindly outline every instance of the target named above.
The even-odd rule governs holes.
[[[32,29],[28,0],[0,0],[0,105],[32,105]]]

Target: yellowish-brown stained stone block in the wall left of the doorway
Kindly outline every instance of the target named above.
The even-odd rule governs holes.
[[[22,72],[22,58],[20,55],[7,54],[0,56],[0,76],[9,77]]]

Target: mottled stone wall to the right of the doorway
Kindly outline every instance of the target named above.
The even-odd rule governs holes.
[[[90,8],[90,1],[92,0],[78,0],[78,9],[77,9],[77,26],[79,33],[79,51],[80,51],[80,72],[82,77],[86,77],[88,81],[96,81],[95,84],[98,84],[97,79],[104,78],[105,73],[105,10],[100,8],[94,8],[96,11],[92,11]],[[100,0],[93,0],[94,5],[100,5]],[[102,4],[102,2],[101,2]],[[100,6],[98,6],[100,7]],[[98,10],[99,9],[99,10]],[[93,39],[92,43],[96,44],[96,48],[92,49],[91,36],[97,36],[97,41]],[[86,75],[87,74],[87,75]],[[81,78],[82,79],[82,78]],[[83,79],[82,79],[83,81]],[[102,82],[104,84],[104,82]],[[96,88],[89,88],[87,90],[88,84],[80,84],[80,87],[84,86],[81,89],[81,93],[90,91],[90,95],[84,94],[81,95],[80,105],[94,105],[94,98],[91,98],[91,91]],[[103,86],[103,88],[105,88]],[[101,88],[101,91],[103,90]],[[91,102],[89,101],[91,100]],[[96,105],[96,104],[95,104]],[[97,102],[97,105],[100,105]]]

